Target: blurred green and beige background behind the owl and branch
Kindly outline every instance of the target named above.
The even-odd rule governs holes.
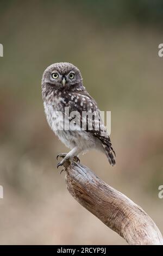
[[[163,2],[4,1],[0,3],[0,243],[124,245],[68,193],[56,156],[68,151],[49,129],[41,76],[54,62],[82,71],[88,92],[110,110],[114,168],[80,157],[148,212],[163,233]]]

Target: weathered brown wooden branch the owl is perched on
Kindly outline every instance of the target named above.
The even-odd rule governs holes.
[[[162,235],[142,208],[82,164],[65,163],[71,195],[129,245],[163,245]]]

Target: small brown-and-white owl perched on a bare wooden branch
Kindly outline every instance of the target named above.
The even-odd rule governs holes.
[[[71,63],[54,63],[43,72],[42,98],[49,126],[69,153],[57,156],[62,160],[78,159],[91,149],[104,153],[109,163],[115,164],[115,151],[100,117],[96,101],[83,86],[79,69]]]

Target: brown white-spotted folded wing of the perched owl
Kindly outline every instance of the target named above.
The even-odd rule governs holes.
[[[115,151],[112,148],[108,132],[104,127],[96,101],[89,95],[89,93],[86,92],[86,90],[84,90],[83,92],[76,92],[74,97],[75,100],[71,106],[73,111],[78,111],[80,113],[81,128],[86,127],[85,131],[90,132],[93,136],[95,136],[102,142],[103,148],[105,149],[106,155],[108,156],[108,160],[110,164],[114,166]],[[84,112],[88,113],[86,119],[82,118]],[[95,117],[93,115],[93,119],[92,113],[95,114]],[[90,127],[91,129],[89,129]]]

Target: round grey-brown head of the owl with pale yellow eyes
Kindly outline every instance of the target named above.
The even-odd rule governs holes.
[[[62,88],[82,85],[82,75],[79,69],[71,63],[54,63],[43,72],[42,85],[45,84]]]

